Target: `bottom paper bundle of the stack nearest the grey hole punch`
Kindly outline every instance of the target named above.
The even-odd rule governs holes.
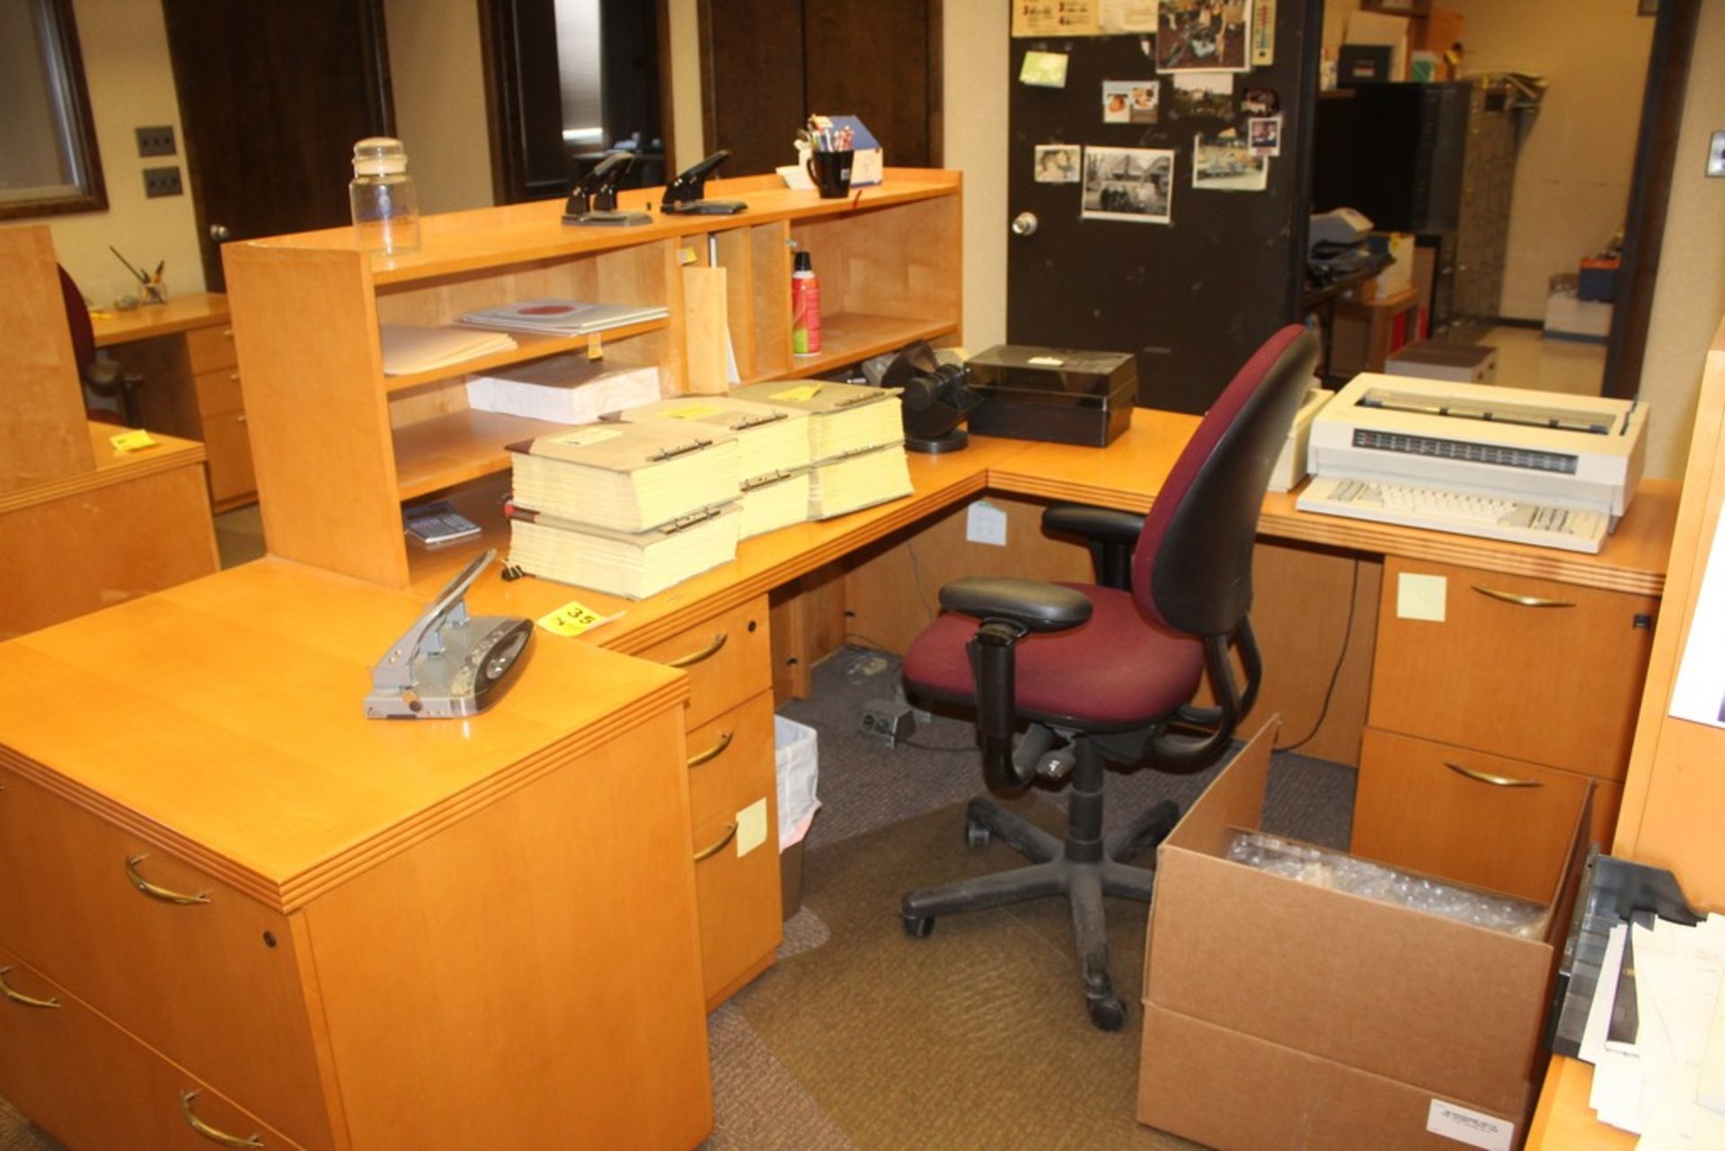
[[[645,599],[737,557],[742,513],[711,507],[647,531],[607,531],[516,509],[509,559],[528,575]]]

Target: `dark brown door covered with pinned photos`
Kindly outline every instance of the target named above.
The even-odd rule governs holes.
[[[1225,107],[1187,114],[1175,109],[1173,81],[1156,72],[1152,40],[1013,40],[1009,198],[1000,221],[1002,230],[1023,221],[1007,238],[1013,343],[1133,352],[1140,404],[1201,412],[1270,333],[1299,319],[1321,9],[1318,0],[1280,0],[1275,64],[1237,72]],[[1018,83],[1033,48],[1068,53],[1064,88]],[[1159,85],[1156,123],[1144,123],[1147,112],[1140,123],[1104,123],[1102,81],[1140,79]],[[1282,109],[1282,155],[1270,160],[1264,190],[1194,188],[1194,136],[1232,128],[1245,138],[1247,88],[1275,91]],[[1085,147],[1076,183],[1037,183],[1037,145],[1052,143]],[[1116,152],[1092,152],[1097,145]],[[1171,166],[1140,171],[1151,160],[1138,150],[1171,150]],[[1113,166],[1102,173],[1107,179],[1095,181],[1109,197],[1099,195],[1095,211],[1123,209],[1114,219],[1083,217],[1083,169],[1092,157]],[[1138,223],[1161,212],[1152,193],[1140,205],[1133,185],[1154,186],[1157,176],[1168,183],[1157,193],[1168,197],[1170,223]]]

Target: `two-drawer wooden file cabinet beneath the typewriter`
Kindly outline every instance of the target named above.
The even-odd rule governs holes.
[[[1561,852],[1497,846],[1566,833],[1589,782],[1594,840],[1611,842],[1656,611],[1649,595],[1389,557],[1354,851],[1396,844],[1423,870],[1549,896],[1554,875],[1506,859]]]

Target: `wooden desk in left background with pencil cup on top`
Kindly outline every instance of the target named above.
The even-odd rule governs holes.
[[[210,506],[228,511],[255,500],[228,297],[200,292],[126,312],[95,312],[91,326],[97,347],[143,378],[143,426],[204,443]]]

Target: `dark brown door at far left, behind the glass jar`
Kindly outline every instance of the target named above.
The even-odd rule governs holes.
[[[348,219],[354,142],[390,135],[380,0],[162,0],[204,280],[219,245]],[[409,169],[411,171],[411,169]]]

